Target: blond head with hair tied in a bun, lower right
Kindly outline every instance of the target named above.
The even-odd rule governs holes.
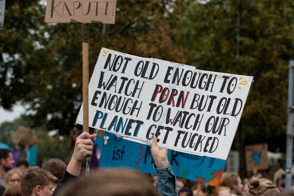
[[[259,178],[258,176],[252,176],[247,185],[246,196],[269,196],[275,192],[280,192],[278,187],[273,184],[273,181]]]

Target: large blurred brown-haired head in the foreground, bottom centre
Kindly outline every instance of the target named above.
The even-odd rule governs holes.
[[[61,187],[56,196],[158,196],[158,189],[142,173],[131,170],[98,170]]]

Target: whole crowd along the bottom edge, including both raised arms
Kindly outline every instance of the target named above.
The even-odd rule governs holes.
[[[224,173],[217,187],[176,177],[169,164],[168,150],[158,148],[153,136],[151,154],[156,175],[103,169],[81,175],[81,165],[92,155],[95,135],[81,133],[76,139],[69,164],[52,158],[39,166],[15,160],[7,149],[0,149],[0,195],[2,196],[288,196],[273,181],[258,175],[241,180],[238,173]]]

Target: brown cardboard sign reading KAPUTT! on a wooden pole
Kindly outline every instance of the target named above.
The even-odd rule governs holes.
[[[114,24],[116,0],[47,0],[45,22]]]

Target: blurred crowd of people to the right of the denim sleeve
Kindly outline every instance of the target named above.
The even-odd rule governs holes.
[[[176,186],[179,196],[294,196],[294,190],[285,190],[278,180],[274,183],[261,173],[241,180],[238,173],[225,172],[216,187],[177,177]]]

